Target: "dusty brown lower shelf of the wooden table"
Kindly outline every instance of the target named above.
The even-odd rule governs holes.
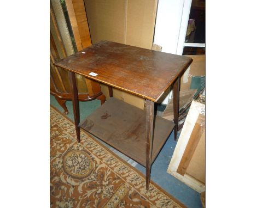
[[[110,97],[79,126],[146,167],[146,111]],[[173,127],[155,115],[152,163]]]

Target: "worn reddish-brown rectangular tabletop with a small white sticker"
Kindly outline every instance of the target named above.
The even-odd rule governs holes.
[[[156,102],[191,62],[189,57],[100,41],[55,65]]]

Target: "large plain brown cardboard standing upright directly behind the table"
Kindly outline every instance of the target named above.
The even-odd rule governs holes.
[[[157,0],[85,0],[92,44],[109,40],[152,49]],[[101,84],[102,93],[109,99],[107,85]],[[113,89],[113,96],[143,109],[144,99]]]

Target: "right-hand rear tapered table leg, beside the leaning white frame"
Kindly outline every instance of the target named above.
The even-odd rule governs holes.
[[[179,86],[180,78],[178,77],[173,85],[173,115],[174,115],[174,140],[177,140],[178,123],[179,123]]]

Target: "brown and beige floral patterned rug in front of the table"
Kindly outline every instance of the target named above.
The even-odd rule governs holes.
[[[50,107],[50,207],[185,207]]]

